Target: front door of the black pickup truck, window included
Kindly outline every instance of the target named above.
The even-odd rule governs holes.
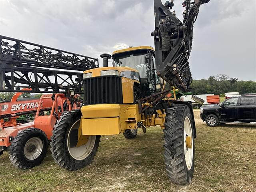
[[[237,105],[238,98],[230,98],[223,102],[223,107],[220,110],[221,118],[225,121],[238,121]]]

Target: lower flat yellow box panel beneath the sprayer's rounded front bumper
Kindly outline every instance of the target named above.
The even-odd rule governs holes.
[[[119,118],[82,119],[83,135],[118,135],[121,133]]]

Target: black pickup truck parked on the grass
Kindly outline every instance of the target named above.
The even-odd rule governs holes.
[[[211,127],[227,122],[256,124],[256,95],[231,97],[220,104],[202,106],[200,118]]]

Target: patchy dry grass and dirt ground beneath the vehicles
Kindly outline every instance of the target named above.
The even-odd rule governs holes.
[[[14,168],[5,152],[0,157],[0,190],[25,191],[140,191],[140,192],[255,192],[256,126],[226,124],[210,128],[194,111],[197,138],[195,172],[189,186],[168,180],[159,127],[138,131],[135,139],[103,136],[90,166],[75,172],[60,168],[50,150],[31,170]]]

